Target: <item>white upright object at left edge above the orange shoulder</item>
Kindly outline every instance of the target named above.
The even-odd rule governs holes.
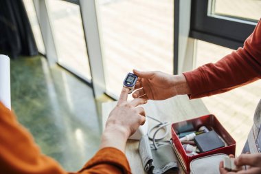
[[[10,58],[0,54],[0,101],[11,110]]]

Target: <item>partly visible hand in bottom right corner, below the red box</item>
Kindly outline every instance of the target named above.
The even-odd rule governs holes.
[[[235,159],[235,164],[240,170],[229,172],[223,167],[223,162],[220,162],[219,171],[221,174],[258,174],[261,173],[261,154],[241,154]],[[247,168],[245,168],[247,166]]]

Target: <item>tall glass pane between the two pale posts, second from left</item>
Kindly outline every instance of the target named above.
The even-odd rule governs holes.
[[[82,78],[91,79],[80,7],[66,1],[49,0],[47,6],[58,53],[58,63]]]

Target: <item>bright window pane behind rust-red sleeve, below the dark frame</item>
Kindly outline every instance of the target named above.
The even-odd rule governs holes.
[[[196,65],[215,63],[230,54],[227,47],[221,47],[204,41],[197,41]],[[251,96],[251,97],[249,97]],[[223,94],[201,98],[209,110],[223,124],[236,140],[236,154],[240,155],[247,135],[253,124],[253,114],[261,96],[261,80],[238,87]]]

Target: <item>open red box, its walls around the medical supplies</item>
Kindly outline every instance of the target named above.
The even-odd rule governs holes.
[[[216,133],[218,133],[218,135],[220,135],[220,137],[223,138],[223,140],[226,142],[226,145],[224,147],[220,147],[212,151],[198,153],[198,155],[194,156],[188,156],[185,150],[183,149],[181,141],[179,140],[178,133],[180,133],[181,129],[183,129],[184,127],[189,126],[190,129],[194,129],[190,131],[195,131],[203,125],[205,125],[206,127],[211,127],[214,131],[216,131]],[[171,126],[171,131],[174,151],[176,152],[177,157],[179,158],[179,162],[181,163],[181,166],[183,167],[186,173],[190,172],[190,162],[198,157],[213,155],[216,153],[235,155],[236,141],[231,137],[231,135],[229,135],[229,133],[225,130],[225,128],[222,126],[222,124],[220,124],[220,122],[218,121],[218,119],[216,119],[214,115],[201,116],[190,120],[175,122]]]

